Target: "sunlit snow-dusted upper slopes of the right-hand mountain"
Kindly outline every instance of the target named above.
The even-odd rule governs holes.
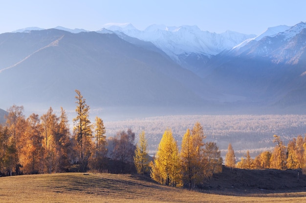
[[[277,31],[280,31],[276,34]],[[269,28],[262,35],[234,47],[231,55],[269,58],[273,63],[297,64],[306,49],[306,23]],[[226,53],[228,54],[228,53]]]

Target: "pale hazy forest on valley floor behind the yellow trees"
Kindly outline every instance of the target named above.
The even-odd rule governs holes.
[[[249,150],[252,157],[275,147],[273,135],[282,137],[287,144],[293,137],[305,135],[306,115],[172,115],[149,118],[105,122],[107,137],[114,136],[122,129],[134,132],[145,131],[148,149],[153,155],[165,129],[171,128],[180,146],[186,129],[199,122],[203,126],[206,141],[214,141],[219,146],[222,157],[232,143],[236,156],[244,156]],[[138,137],[136,135],[136,141]]]

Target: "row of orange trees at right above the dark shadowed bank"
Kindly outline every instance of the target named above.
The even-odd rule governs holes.
[[[306,167],[306,136],[293,137],[287,144],[278,135],[273,135],[273,142],[276,143],[272,151],[263,151],[255,158],[251,158],[249,151],[246,151],[240,161],[236,161],[235,152],[231,144],[228,145],[228,152],[225,158],[225,165],[242,169],[305,169]]]

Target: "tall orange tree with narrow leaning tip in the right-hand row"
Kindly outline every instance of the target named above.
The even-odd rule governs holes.
[[[284,170],[286,168],[287,149],[280,136],[273,135],[273,137],[273,142],[276,142],[277,145],[272,152],[270,164],[272,168]]]

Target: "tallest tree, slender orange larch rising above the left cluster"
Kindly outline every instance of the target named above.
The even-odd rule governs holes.
[[[87,169],[88,158],[92,151],[92,126],[89,120],[89,106],[86,104],[86,99],[83,98],[79,90],[75,90],[75,92],[77,93],[75,96],[77,100],[75,102],[77,104],[75,109],[77,116],[73,119],[73,134],[78,143],[77,147],[81,170],[85,171]]]

